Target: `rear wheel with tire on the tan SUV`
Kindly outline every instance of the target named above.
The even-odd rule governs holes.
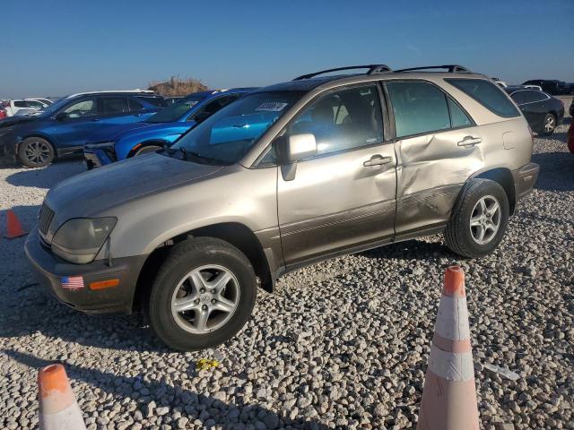
[[[498,211],[494,211],[495,202],[498,203]],[[472,179],[465,185],[456,209],[448,220],[445,239],[456,254],[470,258],[483,257],[491,254],[500,244],[508,222],[509,199],[504,189],[488,179]]]

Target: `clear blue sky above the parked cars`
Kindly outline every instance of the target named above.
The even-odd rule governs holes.
[[[264,86],[352,64],[574,82],[574,0],[25,0],[0,5],[0,99]]]

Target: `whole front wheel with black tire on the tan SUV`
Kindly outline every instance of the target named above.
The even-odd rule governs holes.
[[[221,294],[213,294],[217,288],[213,280],[223,280],[224,272],[230,279],[222,285]],[[207,280],[203,292],[197,288],[196,284],[202,284],[197,274],[203,282]],[[257,279],[248,258],[220,239],[196,237],[175,245],[161,265],[149,294],[147,316],[155,335],[168,347],[179,351],[211,348],[241,330],[256,297]],[[176,304],[193,308],[178,312]],[[235,304],[231,312],[217,309],[225,306],[229,310],[230,304]]]

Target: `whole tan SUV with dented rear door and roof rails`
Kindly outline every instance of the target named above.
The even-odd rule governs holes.
[[[26,253],[65,304],[142,308],[171,348],[213,347],[301,266],[441,233],[491,253],[535,184],[532,145],[514,102],[461,66],[312,73],[58,184]]]

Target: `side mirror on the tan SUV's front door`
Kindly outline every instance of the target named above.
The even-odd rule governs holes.
[[[297,161],[317,155],[317,141],[315,134],[312,133],[282,136],[275,141],[275,145],[285,181],[292,181],[295,178]]]

